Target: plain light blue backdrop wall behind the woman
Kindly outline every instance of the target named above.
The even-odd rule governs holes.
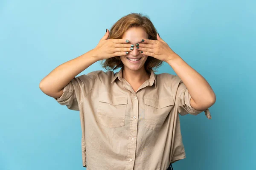
[[[255,8],[255,0],[1,0],[0,170],[85,169],[79,112],[45,95],[39,83],[95,48],[106,28],[132,12],[148,15],[217,96],[211,120],[180,116],[186,159],[174,169],[253,170]],[[95,70],[103,70],[100,62],[81,74]],[[163,72],[175,74],[167,63],[157,74]]]

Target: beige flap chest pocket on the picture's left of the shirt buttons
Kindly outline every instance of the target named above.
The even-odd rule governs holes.
[[[99,96],[96,121],[109,128],[124,126],[127,101],[127,95],[102,93]]]

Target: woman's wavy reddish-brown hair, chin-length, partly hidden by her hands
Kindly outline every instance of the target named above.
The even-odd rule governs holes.
[[[108,39],[122,38],[125,32],[131,27],[143,28],[148,34],[149,40],[157,40],[157,30],[153,23],[148,16],[143,16],[143,14],[140,13],[128,14],[114,23],[110,29],[110,35]],[[147,60],[145,61],[145,71],[148,73],[155,71],[154,69],[159,68],[162,64],[163,62],[161,60],[148,56]],[[106,70],[115,70],[117,68],[124,67],[124,64],[122,63],[119,56],[102,60],[101,65]]]

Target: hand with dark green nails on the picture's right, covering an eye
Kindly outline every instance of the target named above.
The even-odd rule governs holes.
[[[157,34],[157,40],[144,40],[140,42],[139,45],[136,44],[137,50],[142,52],[142,54],[160,59],[161,61],[167,62],[169,59],[173,59],[176,54],[169,45],[160,38]]]

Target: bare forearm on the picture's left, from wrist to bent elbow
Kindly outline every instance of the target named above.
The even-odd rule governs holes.
[[[79,57],[64,62],[41,80],[40,89],[45,94],[54,96],[54,94],[61,91],[74,77],[94,62],[97,62],[97,58],[94,51],[91,50]]]

